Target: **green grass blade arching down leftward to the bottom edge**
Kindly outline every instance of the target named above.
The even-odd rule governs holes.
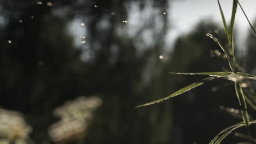
[[[225,128],[224,130],[220,131],[220,133],[214,137],[214,139],[209,143],[209,144],[213,144],[213,143],[217,143],[217,142],[221,142],[226,136],[228,136],[228,134],[230,134],[233,130],[242,127],[244,124],[243,122],[231,125],[228,128]],[[231,132],[230,132],[231,130]],[[226,134],[228,133],[228,134]],[[226,135],[225,135],[226,134]],[[225,137],[222,137],[222,135],[225,135]],[[219,141],[219,139],[222,138],[221,141]]]

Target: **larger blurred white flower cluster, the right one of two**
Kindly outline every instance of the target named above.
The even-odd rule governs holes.
[[[49,129],[49,135],[55,142],[76,139],[85,131],[92,118],[92,112],[100,106],[102,100],[98,97],[79,97],[68,101],[54,110],[54,115],[61,120]]]

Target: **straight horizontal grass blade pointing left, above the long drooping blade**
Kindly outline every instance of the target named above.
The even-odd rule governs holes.
[[[222,76],[230,76],[232,72],[207,72],[207,73],[172,73],[169,72],[170,74],[177,74],[177,75],[208,75],[208,76],[217,76],[217,77],[222,77]]]

